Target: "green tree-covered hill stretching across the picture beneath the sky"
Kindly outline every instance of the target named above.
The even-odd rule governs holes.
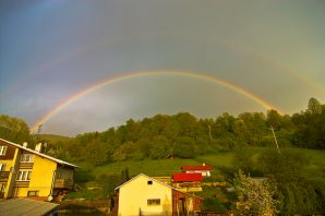
[[[20,122],[20,128],[14,129],[12,119]],[[19,143],[22,139],[35,142],[35,137],[26,137],[26,124],[12,119],[1,116],[0,136]],[[73,139],[51,139],[48,135],[38,139],[48,142],[48,154],[68,160],[87,158],[97,165],[129,158],[191,158],[240,146],[275,146],[275,137],[280,146],[324,148],[324,134],[325,105],[311,98],[306,110],[292,116],[268,110],[267,113],[243,112],[234,117],[226,112],[216,119],[197,119],[191,113],[180,112],[139,121],[130,119],[118,128]]]

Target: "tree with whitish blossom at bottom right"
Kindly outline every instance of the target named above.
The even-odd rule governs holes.
[[[267,180],[255,180],[239,172],[234,176],[233,187],[238,203],[236,215],[275,215],[276,200],[273,197],[275,189]]]

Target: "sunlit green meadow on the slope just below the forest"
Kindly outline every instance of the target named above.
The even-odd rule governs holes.
[[[301,152],[309,159],[309,164],[305,166],[305,171],[310,178],[325,179],[325,151],[294,148]],[[260,154],[266,151],[265,147],[250,147],[253,154],[253,159],[256,161]],[[152,177],[169,176],[180,171],[183,165],[202,165],[203,163],[215,167],[216,172],[219,171],[234,171],[232,166],[233,152],[224,152],[213,155],[198,156],[194,159],[157,159],[157,160],[141,160],[141,161],[120,161],[106,164],[96,168],[89,167],[87,164],[80,164],[83,169],[88,169],[95,177],[101,173],[120,173],[121,170],[128,168],[130,176],[136,176],[139,173],[145,173]]]

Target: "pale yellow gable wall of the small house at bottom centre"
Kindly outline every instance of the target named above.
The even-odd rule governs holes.
[[[152,181],[152,184],[148,184]],[[171,215],[171,188],[139,176],[119,189],[119,216]],[[148,199],[160,199],[160,205],[148,206]]]

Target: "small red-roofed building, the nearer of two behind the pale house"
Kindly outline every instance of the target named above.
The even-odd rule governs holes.
[[[172,185],[182,192],[202,191],[201,173],[177,172],[172,175]]]

